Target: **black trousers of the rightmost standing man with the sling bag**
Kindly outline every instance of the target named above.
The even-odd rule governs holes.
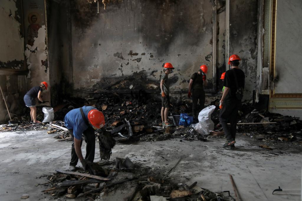
[[[237,114],[240,107],[241,101],[238,99],[223,101],[223,108],[220,110],[219,121],[227,141],[233,141],[236,138]],[[230,123],[230,126],[227,125],[227,123]]]

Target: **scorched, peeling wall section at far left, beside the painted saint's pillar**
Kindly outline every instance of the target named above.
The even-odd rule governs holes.
[[[21,0],[0,3],[0,123],[21,114],[26,93],[24,75],[24,37]]]

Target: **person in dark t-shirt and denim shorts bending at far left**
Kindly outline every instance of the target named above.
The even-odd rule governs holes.
[[[40,86],[31,88],[24,96],[24,103],[26,107],[31,109],[31,122],[33,124],[37,123],[36,115],[37,115],[37,107],[36,107],[36,97],[38,97],[39,101],[44,103],[42,99],[42,91],[47,89],[47,82],[41,82]]]

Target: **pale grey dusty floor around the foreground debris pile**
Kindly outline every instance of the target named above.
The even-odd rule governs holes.
[[[53,136],[46,131],[0,132],[1,200],[20,200],[24,193],[30,196],[27,201],[52,199],[41,192],[44,186],[35,185],[47,182],[46,175],[54,173],[56,168],[68,168],[71,147],[70,142],[55,142]],[[116,145],[111,160],[128,156],[133,162],[165,173],[184,156],[170,174],[176,182],[197,181],[199,187],[215,192],[229,190],[234,196],[229,178],[232,174],[242,200],[300,200],[300,192],[271,194],[278,186],[300,188],[300,146],[284,144],[286,148],[267,150],[246,136],[239,135],[236,141],[238,151],[221,148],[224,139]],[[99,159],[97,148],[95,161]]]

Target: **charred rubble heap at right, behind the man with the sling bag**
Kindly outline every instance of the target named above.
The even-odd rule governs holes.
[[[211,104],[216,106],[211,119],[219,123],[219,100]],[[221,127],[217,128],[222,131]],[[301,142],[302,121],[295,116],[283,116],[266,110],[255,110],[253,104],[242,104],[238,111],[237,131],[255,136],[264,142]]]

